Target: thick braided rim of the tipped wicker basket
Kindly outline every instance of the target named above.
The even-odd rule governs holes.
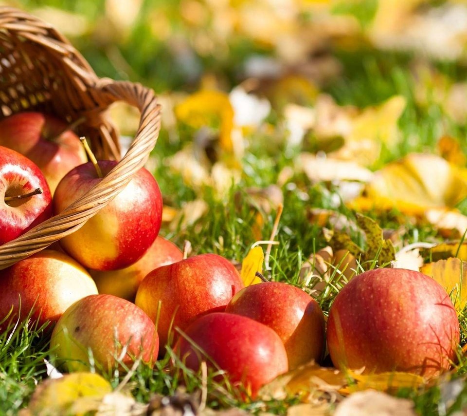
[[[16,9],[0,8],[0,27],[4,19],[12,15],[19,15],[20,19],[27,18],[36,21]],[[58,34],[56,36],[61,38]],[[66,42],[66,39],[64,41]],[[77,76],[82,72],[82,67],[74,63],[71,68]],[[0,246],[0,269],[29,257],[82,227],[90,217],[126,187],[133,175],[144,166],[149,153],[156,145],[161,126],[161,107],[151,89],[139,83],[113,81],[108,78],[98,78],[95,75],[85,76],[83,82],[87,92],[98,96],[104,108],[115,101],[125,101],[140,110],[140,124],[135,139],[125,156],[89,192],[61,213],[42,222],[17,239]]]

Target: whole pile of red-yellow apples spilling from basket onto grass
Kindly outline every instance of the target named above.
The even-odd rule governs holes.
[[[92,157],[91,157],[92,158]],[[117,162],[91,161],[67,125],[42,113],[0,121],[0,245],[59,214]],[[184,258],[159,236],[162,195],[142,168],[107,206],[58,244],[0,270],[0,331],[29,319],[51,330],[61,368],[154,365],[167,348],[205,361],[254,397],[327,350],[341,369],[431,377],[457,358],[459,323],[446,291],[410,270],[354,277],[326,320],[291,284],[244,287],[217,254]],[[326,330],[327,326],[327,330]]]

